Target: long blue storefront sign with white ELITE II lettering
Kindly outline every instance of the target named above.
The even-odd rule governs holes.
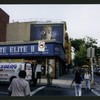
[[[65,57],[61,44],[45,43],[43,51],[39,51],[38,46],[38,43],[0,45],[0,57],[59,56],[61,59]]]

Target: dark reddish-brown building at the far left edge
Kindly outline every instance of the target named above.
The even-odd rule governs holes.
[[[6,41],[6,29],[9,23],[9,15],[0,8],[0,42]]]

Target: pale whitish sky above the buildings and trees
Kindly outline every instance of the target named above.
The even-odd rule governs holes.
[[[66,21],[69,38],[97,39],[100,46],[100,4],[0,4],[13,21]]]

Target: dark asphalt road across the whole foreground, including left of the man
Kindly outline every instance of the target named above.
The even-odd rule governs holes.
[[[8,85],[0,85],[0,96],[8,96]],[[58,86],[31,86],[31,96],[75,96],[74,88]],[[82,88],[82,96],[96,96],[92,91]]]

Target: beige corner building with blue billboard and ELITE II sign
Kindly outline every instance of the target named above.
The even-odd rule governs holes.
[[[42,77],[50,72],[53,78],[65,73],[66,23],[61,22],[14,22],[7,24],[6,43],[0,43],[0,61],[30,61],[42,64]],[[68,42],[68,41],[67,41]],[[68,56],[69,57],[69,56]],[[48,67],[50,65],[50,68]]]

